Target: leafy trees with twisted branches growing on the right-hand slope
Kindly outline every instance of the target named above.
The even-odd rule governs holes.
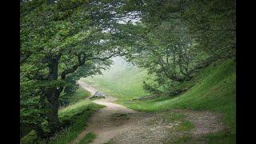
[[[234,0],[130,0],[125,9],[142,22],[126,30],[134,38],[130,58],[154,74],[154,87],[170,92],[210,62],[235,57]]]

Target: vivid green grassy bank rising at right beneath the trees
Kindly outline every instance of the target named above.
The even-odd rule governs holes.
[[[200,81],[185,94],[174,98],[155,98],[126,104],[136,110],[192,109],[210,110],[223,114],[230,127],[228,135],[235,138],[235,62],[226,61],[219,66],[208,66],[198,75]]]

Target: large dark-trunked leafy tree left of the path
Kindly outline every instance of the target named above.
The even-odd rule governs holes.
[[[59,96],[72,75],[99,73],[122,54],[114,42],[118,2],[21,2],[21,120],[42,136],[60,130]],[[116,38],[117,39],[117,38]]]

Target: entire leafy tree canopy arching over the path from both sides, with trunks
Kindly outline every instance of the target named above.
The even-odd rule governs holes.
[[[235,58],[235,21],[234,0],[23,0],[21,125],[41,138],[61,130],[62,98],[114,56],[154,75],[150,93],[179,94],[202,67]]]

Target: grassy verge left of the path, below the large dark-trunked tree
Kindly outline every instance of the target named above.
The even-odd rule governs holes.
[[[24,138],[22,138],[21,143],[52,143],[52,144],[65,144],[70,143],[86,128],[86,122],[90,115],[94,113],[95,110],[98,110],[104,106],[95,104],[94,102],[90,102],[85,100],[84,98],[87,96],[83,96],[83,94],[88,94],[86,90],[78,89],[76,96],[81,98],[82,100],[78,101],[78,99],[74,100],[78,101],[70,106],[66,106],[61,108],[58,111],[58,116],[63,126],[66,126],[65,129],[55,134],[53,138],[50,140],[38,140],[34,133],[34,130],[27,134]],[[90,94],[90,93],[89,93]],[[82,139],[82,142],[90,142],[94,138],[93,134],[87,135]]]

